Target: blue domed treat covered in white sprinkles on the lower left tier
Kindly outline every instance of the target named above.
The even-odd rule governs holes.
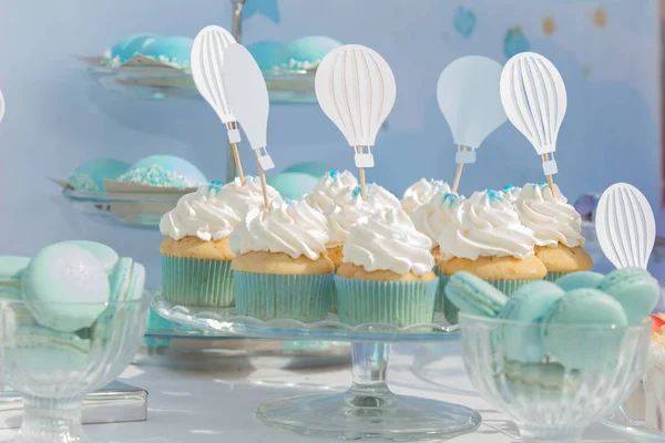
[[[197,187],[205,175],[192,163],[175,155],[151,155],[131,165],[117,182],[160,187]]]

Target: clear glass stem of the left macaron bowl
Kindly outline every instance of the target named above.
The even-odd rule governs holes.
[[[79,442],[83,440],[82,401],[23,398],[21,442]]]

